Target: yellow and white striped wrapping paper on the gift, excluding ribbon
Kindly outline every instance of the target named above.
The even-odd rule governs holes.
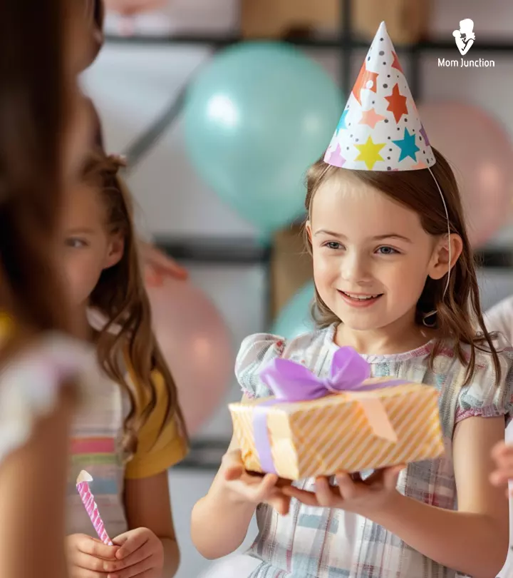
[[[386,380],[371,378],[364,383],[378,387]],[[254,442],[254,410],[269,399],[229,405],[242,460],[251,472],[262,472]],[[380,419],[376,404],[385,420],[388,417],[395,441],[380,435],[373,423]],[[266,415],[274,467],[288,480],[432,460],[444,452],[438,392],[428,385],[405,383],[310,401],[277,402],[266,408]]]

